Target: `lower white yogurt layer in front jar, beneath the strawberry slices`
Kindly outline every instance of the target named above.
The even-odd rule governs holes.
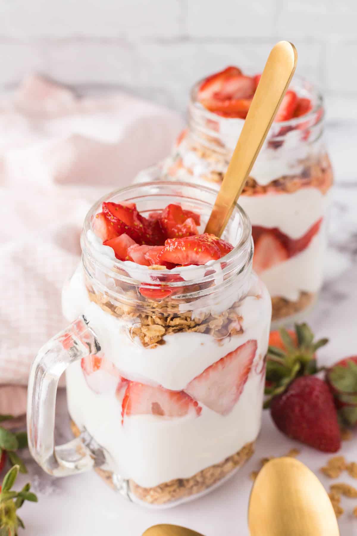
[[[67,403],[74,422],[110,454],[111,470],[152,487],[192,477],[254,441],[261,425],[263,383],[253,368],[238,403],[225,416],[202,407],[199,416],[134,415],[122,426],[121,400],[91,391],[77,362],[67,370]]]

